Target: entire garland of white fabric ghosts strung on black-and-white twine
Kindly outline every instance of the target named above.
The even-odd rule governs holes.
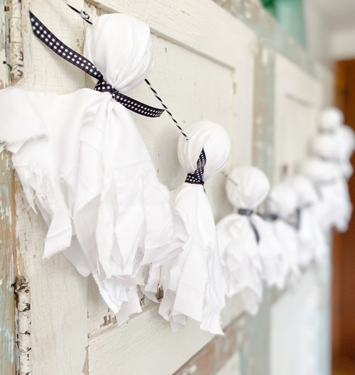
[[[26,200],[48,224],[43,258],[62,252],[82,276],[91,273],[119,324],[141,312],[141,288],[160,304],[173,331],[190,317],[202,330],[222,334],[225,295],[240,293],[255,314],[263,281],[278,288],[295,283],[300,268],[329,252],[324,230],[346,230],[354,131],[339,110],[322,112],[303,176],[273,187],[266,220],[254,212],[270,188],[266,175],[234,168],[226,194],[236,212],[216,232],[204,181],[226,163],[226,131],[211,121],[182,130],[147,80],[153,52],[145,23],[124,14],[91,22],[77,13],[89,23],[84,55],[30,12],[31,26],[50,50],[97,80],[94,90],[0,91],[1,142],[12,153]],[[164,109],[125,94],[143,80]],[[174,192],[158,182],[130,111],[151,118],[166,111],[178,126],[187,178]]]

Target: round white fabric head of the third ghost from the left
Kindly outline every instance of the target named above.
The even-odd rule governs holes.
[[[236,208],[253,210],[263,202],[269,190],[265,173],[252,166],[234,168],[226,180],[226,195]]]

